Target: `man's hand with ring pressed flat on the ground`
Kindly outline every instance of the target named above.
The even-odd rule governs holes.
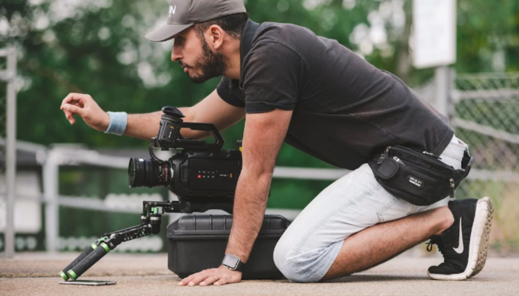
[[[179,286],[221,286],[225,284],[238,283],[241,280],[241,272],[230,270],[225,266],[206,269],[192,274],[180,281]]]

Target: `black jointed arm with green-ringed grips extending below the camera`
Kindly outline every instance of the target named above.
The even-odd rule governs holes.
[[[207,202],[207,203],[191,203],[187,201],[143,201],[141,224],[122,230],[103,234],[89,247],[87,247],[76,259],[67,265],[60,276],[64,280],[69,278],[76,280],[84,274],[95,262],[98,262],[108,252],[115,249],[122,242],[131,241],[132,239],[158,234],[160,232],[161,214],[162,213],[193,213],[205,212],[208,209],[222,209],[227,213],[233,213],[233,204],[229,202]]]

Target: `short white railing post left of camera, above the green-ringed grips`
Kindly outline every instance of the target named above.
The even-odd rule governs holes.
[[[59,219],[58,219],[58,168],[59,152],[49,151],[43,165],[43,195],[45,198],[45,243],[48,252],[58,250]]]

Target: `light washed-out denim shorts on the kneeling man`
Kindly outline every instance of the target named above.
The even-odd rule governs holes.
[[[454,136],[440,155],[461,168],[468,147]],[[344,239],[377,223],[399,219],[447,205],[445,198],[430,206],[416,206],[381,187],[367,164],[336,180],[306,206],[280,238],[274,262],[291,281],[319,281],[337,258]]]

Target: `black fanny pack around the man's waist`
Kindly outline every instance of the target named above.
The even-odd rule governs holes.
[[[389,193],[418,206],[431,205],[450,195],[469,174],[474,158],[465,151],[461,170],[427,151],[388,146],[368,162],[375,179]]]

